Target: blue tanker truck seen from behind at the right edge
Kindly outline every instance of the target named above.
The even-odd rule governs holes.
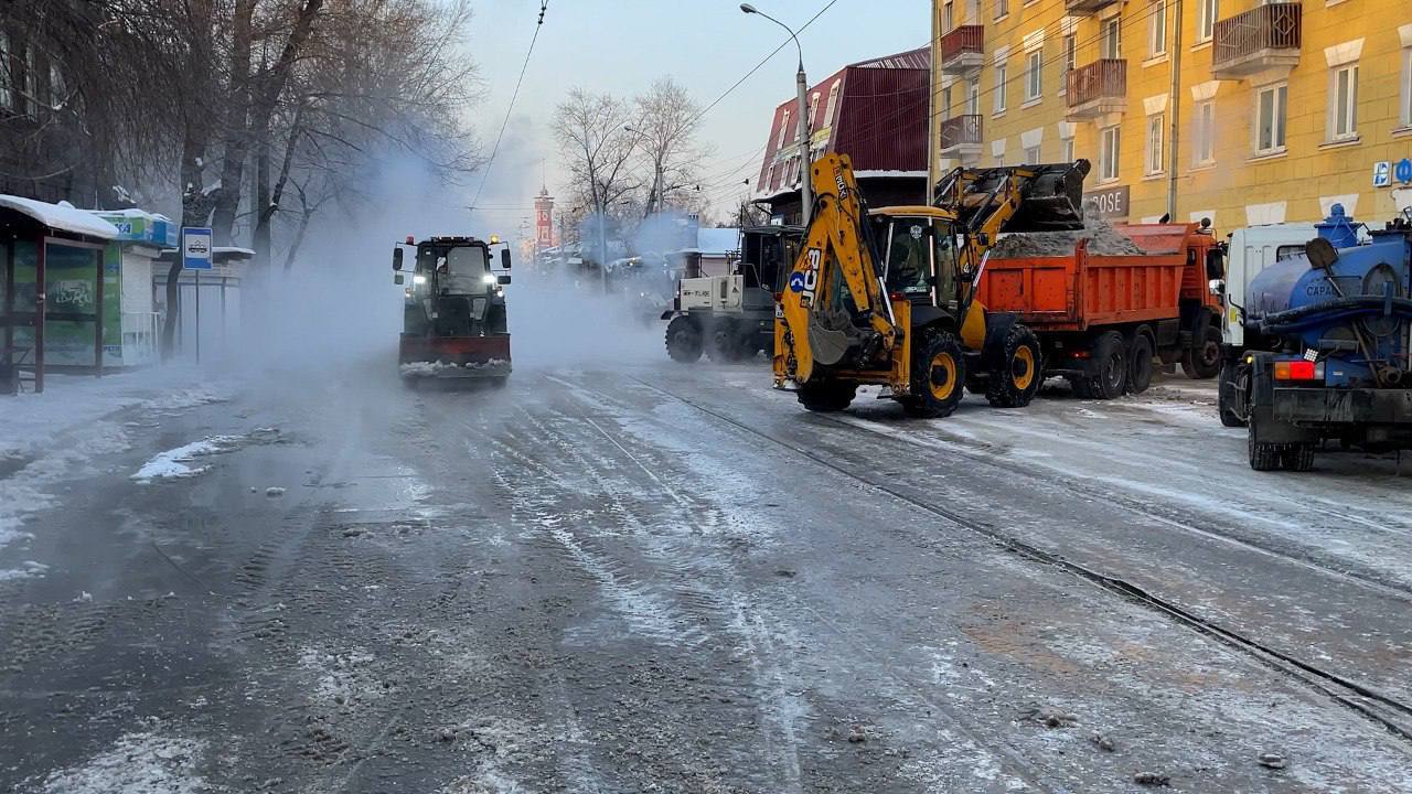
[[[1371,230],[1334,205],[1317,237],[1250,278],[1245,305],[1228,300],[1244,340],[1224,352],[1220,415],[1248,427],[1252,469],[1306,472],[1326,442],[1370,452],[1412,446],[1406,215]]]

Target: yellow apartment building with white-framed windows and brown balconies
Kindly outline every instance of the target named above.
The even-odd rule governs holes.
[[[933,177],[1084,157],[1100,215],[1221,232],[1412,184],[1412,0],[935,0],[932,47]]]

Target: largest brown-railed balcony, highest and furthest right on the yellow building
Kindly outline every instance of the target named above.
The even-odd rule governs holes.
[[[1288,76],[1299,65],[1302,11],[1299,3],[1271,3],[1217,21],[1211,76],[1240,81],[1268,71]]]

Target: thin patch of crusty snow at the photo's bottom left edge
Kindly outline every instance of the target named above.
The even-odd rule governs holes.
[[[155,732],[126,733],[80,766],[55,771],[44,781],[54,794],[198,794],[210,791],[196,771],[205,743]]]

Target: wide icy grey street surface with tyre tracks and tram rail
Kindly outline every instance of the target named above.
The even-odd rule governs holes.
[[[281,383],[0,458],[0,790],[1412,791],[1406,478],[1209,384]]]

